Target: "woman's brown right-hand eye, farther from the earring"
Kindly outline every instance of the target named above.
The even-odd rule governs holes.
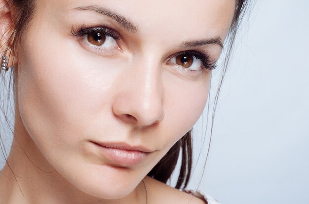
[[[200,70],[203,64],[202,60],[188,53],[177,55],[171,58],[170,62],[190,70]]]

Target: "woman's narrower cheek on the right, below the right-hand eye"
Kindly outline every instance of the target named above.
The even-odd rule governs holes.
[[[165,118],[161,135],[167,151],[202,114],[209,93],[211,72],[204,70],[198,81],[186,81],[170,74],[163,78]]]

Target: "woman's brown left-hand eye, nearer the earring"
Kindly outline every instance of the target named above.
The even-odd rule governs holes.
[[[113,48],[117,47],[117,41],[111,37],[107,36],[105,33],[93,32],[85,36],[85,39],[92,45],[98,47]]]

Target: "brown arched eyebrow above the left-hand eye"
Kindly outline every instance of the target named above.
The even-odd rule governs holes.
[[[115,11],[102,7],[102,6],[97,6],[97,5],[78,6],[75,9],[94,11],[96,13],[109,16],[112,19],[116,20],[116,22],[118,22],[123,28],[125,28],[127,31],[131,33],[137,33],[139,30],[136,25],[134,25],[130,20],[126,19],[124,16],[121,16],[117,14]]]

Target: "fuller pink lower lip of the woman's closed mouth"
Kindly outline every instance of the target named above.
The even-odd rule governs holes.
[[[103,155],[116,163],[117,165],[121,166],[133,166],[138,163],[141,163],[149,153],[135,151],[135,150],[122,150],[116,148],[109,148],[97,143],[93,143],[96,146],[100,147],[102,150]]]

